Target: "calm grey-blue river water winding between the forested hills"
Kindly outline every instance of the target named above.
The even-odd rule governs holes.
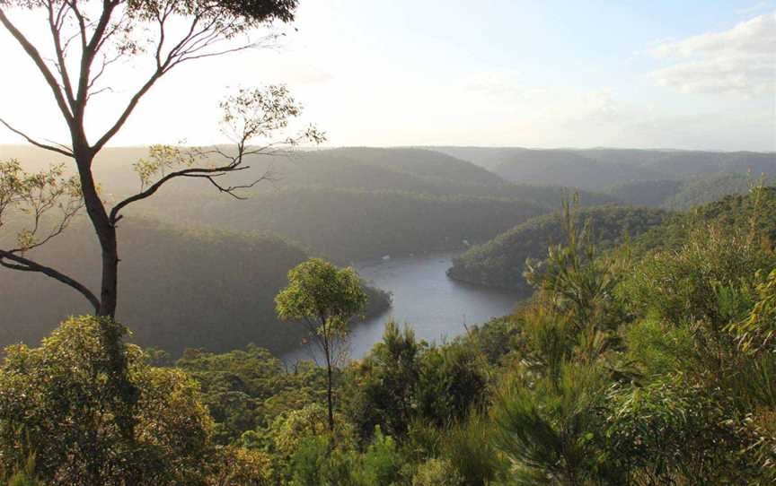
[[[350,357],[361,358],[383,336],[385,322],[411,325],[419,339],[442,343],[465,332],[466,325],[504,316],[522,296],[515,291],[489,289],[455,282],[446,275],[457,254],[408,256],[387,262],[357,265],[358,273],[375,286],[390,291],[393,305],[384,314],[355,325],[350,334]],[[309,350],[284,357],[309,359]]]

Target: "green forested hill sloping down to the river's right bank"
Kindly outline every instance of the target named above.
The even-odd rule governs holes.
[[[657,209],[601,206],[579,211],[578,220],[590,221],[594,240],[611,247],[626,234],[635,237],[659,225],[667,215]],[[546,214],[472,247],[454,259],[447,273],[464,282],[527,291],[525,259],[546,256],[548,247],[564,243],[564,234],[561,214]]]

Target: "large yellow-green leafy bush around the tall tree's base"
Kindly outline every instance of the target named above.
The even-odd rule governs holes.
[[[139,391],[128,437],[117,416],[97,317],[68,319],[40,348],[9,346],[0,367],[0,466],[13,470],[34,451],[50,485],[198,484],[213,423],[198,385],[179,370],[145,363],[127,346],[128,379]],[[18,480],[21,481],[21,480]]]

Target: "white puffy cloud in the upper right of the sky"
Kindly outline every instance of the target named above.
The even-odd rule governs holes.
[[[776,12],[730,30],[658,42],[647,52],[675,61],[653,76],[658,84],[678,91],[745,96],[776,92]]]

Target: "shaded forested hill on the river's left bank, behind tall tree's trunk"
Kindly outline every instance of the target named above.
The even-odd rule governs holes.
[[[77,221],[41,247],[41,263],[96,287],[99,248]],[[306,255],[273,236],[183,230],[128,217],[119,225],[119,320],[132,340],[177,355],[184,348],[229,351],[257,343],[281,353],[301,339],[302,326],[275,319],[275,295]],[[370,290],[373,311],[388,305]],[[0,344],[38,343],[65,317],[88,313],[75,291],[40,274],[0,269]]]

